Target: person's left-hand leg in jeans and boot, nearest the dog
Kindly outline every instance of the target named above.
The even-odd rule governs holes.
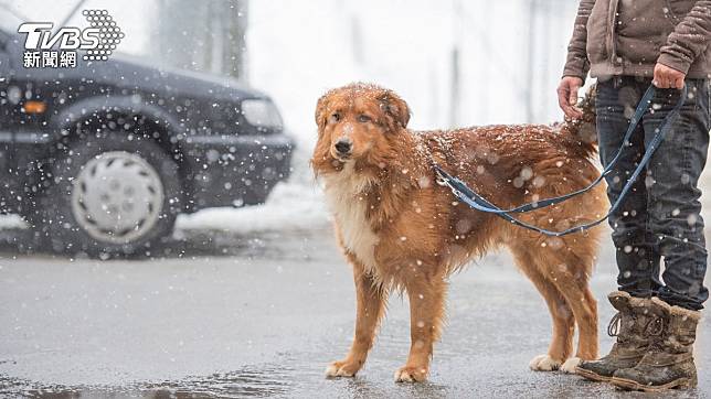
[[[598,82],[595,108],[597,112],[597,141],[603,165],[608,165],[617,154],[623,138],[645,87],[634,78],[619,82]],[[638,126],[628,147],[617,161],[613,173],[606,176],[611,203],[619,198],[622,188],[637,168],[645,151],[644,131]],[[659,282],[659,255],[651,245],[648,233],[647,188],[645,176],[637,179],[624,203],[609,217],[613,242],[616,248],[619,291],[609,294],[609,302],[618,311],[608,326],[617,336],[609,354],[594,362],[582,362],[575,371],[591,380],[608,381],[614,373],[634,367],[649,347],[644,335],[647,317],[638,312],[650,301]],[[636,296],[636,298],[633,298]]]

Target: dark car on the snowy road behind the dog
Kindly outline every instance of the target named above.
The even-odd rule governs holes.
[[[293,140],[268,96],[112,55],[24,68],[0,29],[0,212],[54,250],[150,251],[176,216],[265,201]]]

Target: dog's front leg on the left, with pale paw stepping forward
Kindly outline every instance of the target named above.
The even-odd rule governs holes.
[[[327,377],[353,377],[363,367],[385,310],[384,289],[359,265],[353,265],[353,274],[358,302],[353,344],[344,359],[333,362],[326,368]]]

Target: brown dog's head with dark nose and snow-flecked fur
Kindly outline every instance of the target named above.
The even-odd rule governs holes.
[[[384,168],[408,120],[407,104],[391,90],[362,83],[329,90],[316,105],[314,171],[336,172],[349,162]]]

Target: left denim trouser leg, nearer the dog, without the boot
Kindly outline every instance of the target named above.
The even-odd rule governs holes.
[[[625,78],[598,82],[595,108],[597,112],[597,141],[603,165],[609,164],[617,154],[629,117],[644,91],[638,83]],[[644,153],[644,131],[641,126],[634,132],[629,147],[626,147],[611,174],[606,176],[607,197],[611,204],[617,201],[629,175],[637,168]],[[634,296],[651,296],[660,288],[660,256],[655,251],[652,237],[647,229],[647,190],[641,175],[634,183],[624,203],[611,215],[613,242],[616,249],[619,274],[617,283],[622,291]]]

